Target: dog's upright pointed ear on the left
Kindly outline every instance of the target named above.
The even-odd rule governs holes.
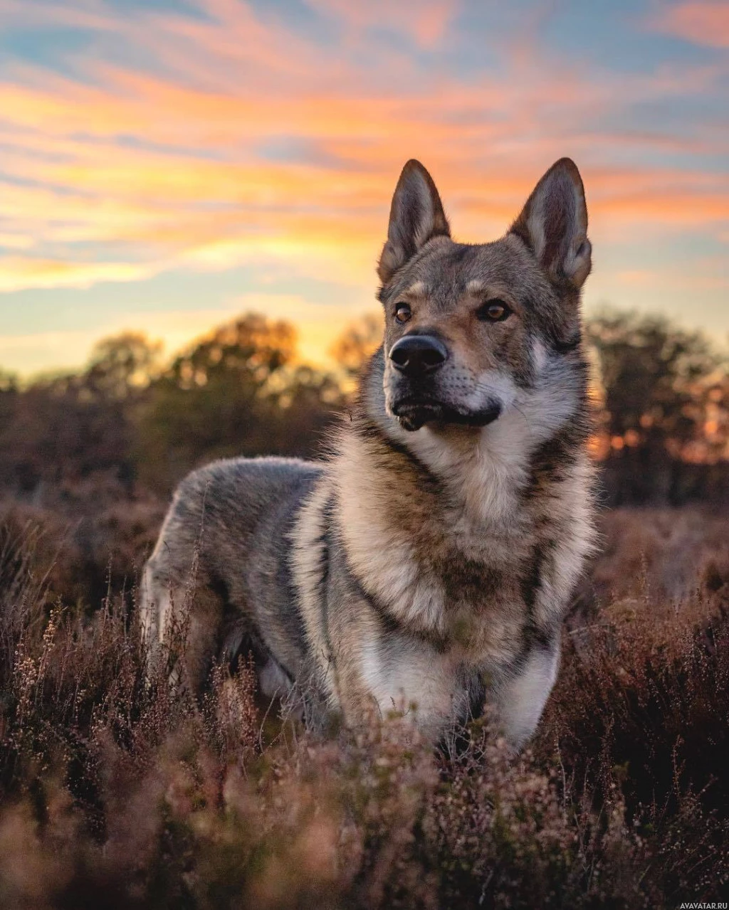
[[[451,227],[433,178],[411,158],[392,197],[388,238],[377,267],[382,284],[434,237],[451,237]]]

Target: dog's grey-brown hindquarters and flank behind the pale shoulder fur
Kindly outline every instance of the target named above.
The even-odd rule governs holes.
[[[150,651],[188,616],[188,681],[245,643],[268,673],[266,688],[300,678],[307,661],[289,561],[289,534],[321,467],[295,459],[219,460],[177,488],[144,573],[141,619]],[[268,655],[276,654],[276,662]],[[283,677],[281,676],[283,674]]]

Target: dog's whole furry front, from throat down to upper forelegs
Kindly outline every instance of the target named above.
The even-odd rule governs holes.
[[[381,436],[340,440],[293,538],[330,703],[415,703],[422,726],[442,728],[490,689],[532,729],[592,545],[591,470],[567,443],[528,465],[456,453],[449,482]]]

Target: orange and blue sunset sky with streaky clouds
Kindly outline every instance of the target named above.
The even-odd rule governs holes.
[[[322,360],[409,157],[499,236],[558,157],[588,311],[729,331],[729,2],[0,0],[0,368],[238,312]]]

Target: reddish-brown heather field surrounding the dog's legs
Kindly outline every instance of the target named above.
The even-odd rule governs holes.
[[[93,522],[2,512],[0,905],[726,899],[725,511],[602,513],[559,682],[510,761],[488,722],[451,752],[397,718],[308,732],[245,661],[202,702],[147,684],[136,584],[164,501],[99,501]]]

